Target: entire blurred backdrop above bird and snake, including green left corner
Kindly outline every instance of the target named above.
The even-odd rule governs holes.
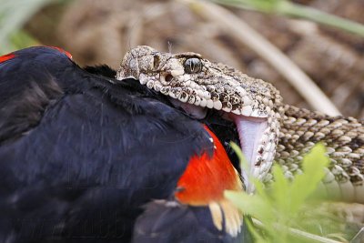
[[[282,2],[246,2],[254,6],[262,1]],[[363,0],[291,2],[364,24]],[[0,4],[1,54],[26,46],[60,46],[81,66],[117,68],[126,51],[137,45],[173,53],[193,51],[272,82],[288,104],[312,108],[277,68],[229,29],[238,23],[221,24],[219,17],[234,15],[296,63],[343,115],[364,118],[364,37],[342,29],[275,15],[274,9],[228,7],[228,12],[214,15],[203,5],[186,1],[0,0]]]

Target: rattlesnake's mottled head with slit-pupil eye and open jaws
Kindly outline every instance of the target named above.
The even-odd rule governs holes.
[[[163,53],[149,46],[137,46],[126,53],[116,78],[130,76],[172,97],[172,103],[190,116],[203,118],[207,109],[216,109],[233,120],[249,173],[260,179],[268,173],[282,113],[282,97],[274,86],[197,53]],[[243,178],[251,190],[246,173]]]

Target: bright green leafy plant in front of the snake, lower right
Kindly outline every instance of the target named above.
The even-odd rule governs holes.
[[[238,157],[242,158],[239,148],[235,145],[233,148],[238,151]],[[265,188],[262,182],[251,178],[256,187],[254,195],[237,191],[225,192],[225,197],[244,214],[260,222],[260,230],[247,222],[257,242],[311,242],[312,238],[307,235],[313,238],[323,238],[319,235],[328,236],[332,233],[342,235],[339,223],[335,225],[335,219],[330,218],[329,212],[323,212],[319,206],[323,198],[319,197],[318,186],[325,177],[325,167],[329,166],[329,157],[325,151],[325,147],[320,144],[313,147],[303,158],[303,173],[292,180],[286,178],[282,168],[276,164],[272,169],[274,181],[269,187]],[[242,167],[247,167],[246,162],[243,162]],[[328,230],[324,233],[322,228]],[[295,234],[295,230],[303,233]],[[318,239],[315,242],[330,240]]]

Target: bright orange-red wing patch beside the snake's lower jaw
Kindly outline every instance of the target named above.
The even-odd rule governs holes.
[[[205,206],[223,200],[225,190],[241,190],[238,171],[233,167],[225,148],[216,135],[204,126],[214,146],[214,154],[190,158],[184,174],[177,182],[178,201],[193,206]]]

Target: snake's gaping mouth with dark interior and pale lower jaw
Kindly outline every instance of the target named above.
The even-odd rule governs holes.
[[[247,191],[252,191],[248,177],[258,177],[268,172],[274,157],[274,137],[269,143],[268,117],[254,117],[227,113],[214,108],[194,106],[171,99],[174,106],[184,110],[188,116],[199,119],[217,135],[227,150],[227,155],[238,169],[244,180]],[[248,173],[240,168],[236,152],[230,147],[230,142],[238,144],[248,161]],[[269,162],[271,161],[271,162]],[[252,175],[248,175],[252,174]]]

